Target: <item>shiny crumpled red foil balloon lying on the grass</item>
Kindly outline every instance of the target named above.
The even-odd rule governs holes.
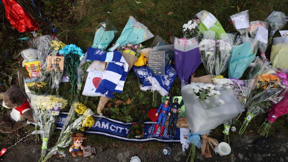
[[[23,9],[16,0],[2,0],[5,7],[6,19],[19,32],[38,30],[37,22]]]

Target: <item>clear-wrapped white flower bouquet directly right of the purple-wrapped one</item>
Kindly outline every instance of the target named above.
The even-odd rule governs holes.
[[[207,74],[214,74],[214,65],[216,59],[216,33],[205,31],[203,39],[198,44],[201,60]]]

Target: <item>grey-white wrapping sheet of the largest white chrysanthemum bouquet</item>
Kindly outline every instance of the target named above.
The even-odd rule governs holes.
[[[218,125],[233,119],[244,109],[237,102],[232,89],[222,91],[220,95],[214,95],[201,101],[192,91],[192,85],[181,86],[181,94],[185,103],[186,119],[192,134],[207,132]],[[222,99],[225,103],[220,103]]]

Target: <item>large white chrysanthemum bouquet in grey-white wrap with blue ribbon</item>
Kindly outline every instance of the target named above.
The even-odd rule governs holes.
[[[191,83],[182,84],[181,94],[185,103],[187,124],[191,131],[185,145],[193,144],[192,157],[195,155],[195,146],[202,148],[203,153],[210,130],[244,111],[232,89],[218,91],[213,84]],[[200,136],[204,141],[202,143]],[[216,143],[217,141],[213,145]]]

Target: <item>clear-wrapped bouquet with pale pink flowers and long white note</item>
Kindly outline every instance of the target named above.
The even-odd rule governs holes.
[[[263,21],[250,22],[249,33],[251,38],[258,40],[261,56],[265,57],[265,51],[268,46],[268,24]],[[264,60],[264,58],[262,58]]]

